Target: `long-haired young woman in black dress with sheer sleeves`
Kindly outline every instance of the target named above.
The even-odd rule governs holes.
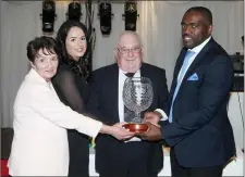
[[[87,28],[74,21],[64,22],[57,34],[61,49],[60,65],[52,79],[60,100],[74,111],[86,114],[88,96],[86,69],[83,68],[87,58]],[[68,117],[69,118],[69,117]],[[69,177],[88,177],[89,137],[75,130],[68,130],[70,148]]]

